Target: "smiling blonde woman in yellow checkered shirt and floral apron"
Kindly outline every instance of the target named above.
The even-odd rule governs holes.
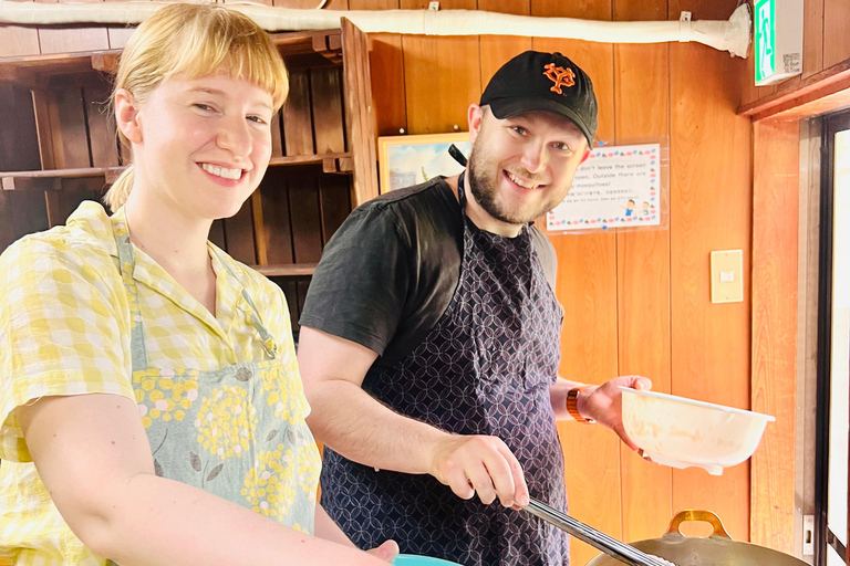
[[[207,240],[258,187],[287,91],[271,39],[236,11],[168,6],[131,39],[114,213],[84,202],[0,256],[0,564],[397,552],[354,548],[315,505],[283,294]]]

